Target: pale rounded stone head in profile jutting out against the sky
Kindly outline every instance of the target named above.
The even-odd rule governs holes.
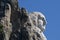
[[[41,31],[45,30],[47,21],[46,21],[45,16],[41,12],[32,12],[30,14],[30,18],[34,26],[39,27]]]

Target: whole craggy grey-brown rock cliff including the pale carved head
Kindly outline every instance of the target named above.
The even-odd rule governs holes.
[[[25,8],[19,8],[18,0],[1,0],[0,40],[47,40],[43,32],[46,18],[41,12],[29,13]],[[3,13],[2,13],[2,12]]]

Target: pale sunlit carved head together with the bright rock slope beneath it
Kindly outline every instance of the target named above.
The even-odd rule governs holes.
[[[43,32],[46,26],[46,18],[41,12],[32,12],[29,14],[32,21],[32,30],[37,40],[47,40]]]

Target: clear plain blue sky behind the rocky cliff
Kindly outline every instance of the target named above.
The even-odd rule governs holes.
[[[19,6],[28,12],[42,12],[47,19],[47,39],[60,40],[60,0],[19,0]]]

